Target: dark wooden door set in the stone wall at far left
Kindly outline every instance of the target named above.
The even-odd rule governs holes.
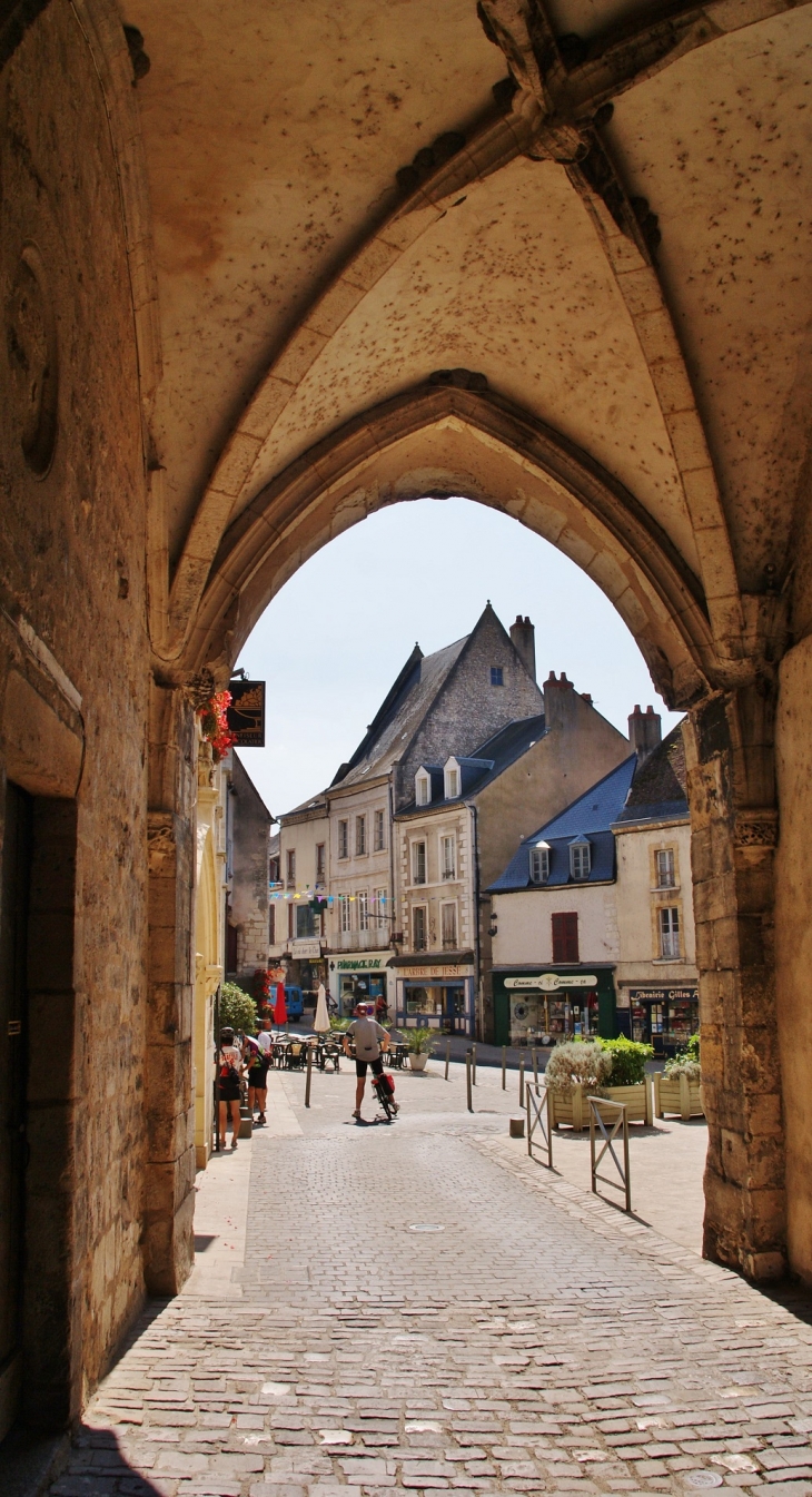
[[[0,882],[0,1440],[15,1419],[19,1391],[31,810],[30,796],[7,784]]]

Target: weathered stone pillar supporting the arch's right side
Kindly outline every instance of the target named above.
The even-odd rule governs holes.
[[[755,683],[685,725],[709,1148],[704,1253],[769,1280],[785,1269],[776,1034],[775,692]]]

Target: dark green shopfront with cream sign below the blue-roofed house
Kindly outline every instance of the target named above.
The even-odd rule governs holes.
[[[613,967],[493,969],[496,1045],[553,1045],[618,1033]]]

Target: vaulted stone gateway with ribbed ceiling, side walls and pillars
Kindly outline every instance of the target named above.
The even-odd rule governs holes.
[[[812,1281],[811,7],[574,13],[3,7],[0,1430],[191,1265],[196,713],[425,494],[686,713],[706,1251]]]

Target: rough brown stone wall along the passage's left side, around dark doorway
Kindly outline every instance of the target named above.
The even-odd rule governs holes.
[[[30,1090],[31,1210],[51,1175],[24,1368],[42,1425],[78,1410],[144,1293],[144,463],[117,163],[70,6],[3,69],[0,135],[3,762],[76,798],[70,852],[70,816],[40,817],[39,865],[75,859],[75,910],[40,879],[28,972],[33,1057],[51,1042]]]

